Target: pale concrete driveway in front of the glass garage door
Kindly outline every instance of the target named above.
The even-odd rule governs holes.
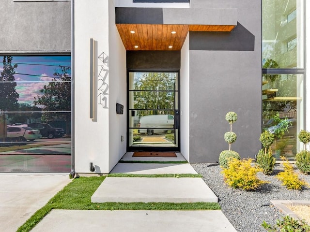
[[[16,232],[70,181],[69,174],[1,173],[0,231]]]

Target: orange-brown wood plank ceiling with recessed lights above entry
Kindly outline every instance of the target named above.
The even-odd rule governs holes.
[[[116,24],[124,47],[133,50],[181,50],[188,31],[232,31],[231,25]]]

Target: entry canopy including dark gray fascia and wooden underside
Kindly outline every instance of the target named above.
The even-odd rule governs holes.
[[[188,31],[230,32],[236,9],[115,8],[127,51],[181,50]]]

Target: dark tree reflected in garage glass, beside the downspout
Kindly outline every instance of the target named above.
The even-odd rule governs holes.
[[[40,90],[42,95],[34,99],[35,105],[42,105],[44,113],[42,121],[53,121],[64,119],[66,122],[66,133],[70,133],[71,114],[62,111],[71,111],[71,75],[70,67],[60,66],[54,73],[55,78]],[[57,113],[48,113],[57,111]]]

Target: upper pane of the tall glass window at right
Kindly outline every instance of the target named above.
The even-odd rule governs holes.
[[[304,68],[303,0],[263,0],[263,68]]]

